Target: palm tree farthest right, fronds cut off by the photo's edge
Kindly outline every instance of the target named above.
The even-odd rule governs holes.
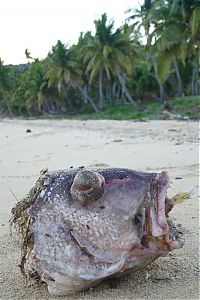
[[[172,64],[178,80],[179,95],[182,92],[182,82],[177,64],[177,58],[181,58],[185,64],[186,59],[194,61],[192,82],[194,82],[193,94],[198,94],[198,65],[200,51],[200,2],[193,0],[173,0],[167,4],[168,15],[158,34],[158,55],[161,62],[161,75],[163,70],[171,71]],[[163,58],[165,58],[163,60]],[[163,61],[165,64],[163,65]]]

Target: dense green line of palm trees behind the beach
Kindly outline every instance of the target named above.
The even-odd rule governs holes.
[[[25,65],[0,59],[1,114],[99,112],[125,102],[138,110],[155,99],[167,108],[169,98],[199,95],[200,0],[145,0],[125,17],[114,29],[103,14],[94,34],[72,46],[58,41],[43,60],[27,49]]]

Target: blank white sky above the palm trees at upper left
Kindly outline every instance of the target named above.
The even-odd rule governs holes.
[[[115,26],[141,0],[1,0],[0,58],[4,64],[27,63],[25,49],[45,58],[58,40],[77,43],[80,32],[94,32],[94,20],[106,12]]]

